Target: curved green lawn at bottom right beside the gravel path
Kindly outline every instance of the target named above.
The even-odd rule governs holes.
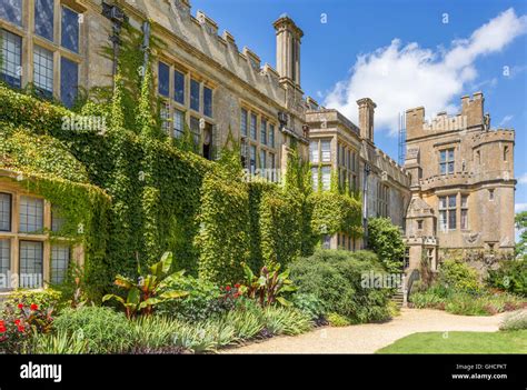
[[[414,333],[376,353],[527,353],[527,330]]]

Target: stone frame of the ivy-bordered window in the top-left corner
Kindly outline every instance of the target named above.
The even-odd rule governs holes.
[[[71,51],[61,46],[62,37],[62,7],[68,8],[79,17],[79,52]],[[83,14],[88,9],[71,0],[56,0],[53,4],[53,40],[50,41],[34,32],[34,0],[22,1],[21,26],[0,19],[0,30],[6,30],[22,39],[21,50],[21,87],[33,82],[33,57],[34,47],[49,50],[53,54],[53,91],[52,98],[61,101],[61,58],[66,58],[78,66],[77,84],[81,87],[81,74],[84,67],[86,48],[83,43],[87,36],[87,27]]]

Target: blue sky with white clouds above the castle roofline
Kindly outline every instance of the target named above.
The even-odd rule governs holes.
[[[357,98],[377,102],[376,143],[397,160],[399,111],[457,113],[481,90],[493,127],[516,130],[516,209],[527,210],[527,1],[191,0],[238,47],[276,64],[272,22],[287,12],[304,30],[307,96],[356,122]],[[322,23],[326,14],[326,23]],[[508,74],[507,74],[508,71]],[[506,74],[504,74],[504,72]]]

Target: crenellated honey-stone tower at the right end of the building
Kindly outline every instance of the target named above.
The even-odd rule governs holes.
[[[427,259],[485,259],[514,250],[515,132],[491,129],[484,96],[461,98],[461,112],[425,120],[406,112],[406,170],[411,201],[406,219],[409,267]]]

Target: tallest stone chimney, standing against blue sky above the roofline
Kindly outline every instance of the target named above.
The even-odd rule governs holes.
[[[287,13],[272,24],[277,34],[277,71],[295,86],[300,87],[300,40],[302,30]]]

